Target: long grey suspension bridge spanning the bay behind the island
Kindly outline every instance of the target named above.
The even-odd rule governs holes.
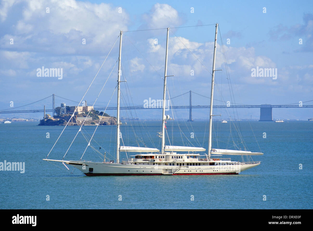
[[[188,94],[189,93],[189,94]],[[201,96],[202,100],[194,100],[196,96]],[[188,99],[186,98],[188,97]],[[200,98],[201,98],[200,97]],[[26,105],[12,107],[10,109],[0,110],[0,114],[17,114],[17,113],[38,113],[44,112],[44,105],[51,105],[51,109],[46,106],[46,112],[52,112],[52,116],[55,114],[55,99],[58,98],[58,101],[66,100],[67,103],[79,103],[78,101],[69,100],[57,95],[49,95],[48,97],[35,101],[33,103],[29,103]],[[189,109],[189,121],[193,121],[192,119],[192,109],[198,108],[209,108],[210,105],[206,105],[209,102],[210,97],[200,95],[193,91],[188,91],[181,95],[172,97],[171,100],[171,107],[172,109]],[[178,102],[177,102],[178,100]],[[302,105],[302,103],[294,103],[294,104],[285,104],[285,105],[270,105],[270,104],[262,104],[262,105],[245,105],[245,104],[235,104],[230,103],[229,101],[225,102],[222,100],[217,100],[222,105],[213,105],[213,108],[260,108],[260,119],[259,121],[273,121],[272,110],[273,108],[313,108],[313,105]],[[312,102],[313,100],[306,101]],[[85,101],[82,101],[81,104],[83,105]],[[188,103],[186,103],[188,102]],[[304,102],[304,103],[306,103]],[[179,105],[180,104],[180,105]],[[187,104],[187,105],[186,105]],[[92,106],[92,104],[87,104],[87,106]],[[121,106],[121,110],[143,110],[143,109],[162,109],[162,106],[159,104],[152,104],[152,105],[137,105],[137,106]],[[101,105],[94,105],[94,110],[117,110],[116,106],[101,106]]]

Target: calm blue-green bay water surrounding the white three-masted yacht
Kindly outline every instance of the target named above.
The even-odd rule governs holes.
[[[0,171],[0,208],[47,209],[131,209],[131,208],[196,208],[196,209],[312,209],[313,176],[313,121],[289,123],[241,121],[244,141],[250,151],[264,152],[254,157],[261,165],[239,175],[219,176],[119,176],[87,177],[79,170],[62,163],[56,166],[42,159],[47,156],[64,127],[36,126],[38,122],[12,122],[0,124],[0,162],[25,162],[25,173]],[[186,144],[187,138],[194,145],[208,147],[204,133],[206,122],[180,121],[167,123],[169,140],[174,145]],[[130,124],[129,124],[130,125]],[[251,131],[251,127],[254,134]],[[226,145],[230,126],[214,123],[218,143]],[[85,126],[86,136],[92,135],[95,126]],[[181,138],[181,131],[186,135]],[[67,127],[49,155],[62,159],[72,142],[77,126]],[[143,126],[123,126],[125,145],[136,146],[133,131],[147,146],[159,147],[160,123],[146,121]],[[234,129],[232,128],[232,132]],[[49,132],[50,138],[46,138]],[[194,133],[195,137],[191,138]],[[263,138],[266,132],[266,138]],[[89,135],[88,135],[89,134]],[[255,141],[254,135],[259,143]],[[238,140],[237,136],[233,136]],[[142,138],[142,139],[141,139]],[[231,139],[231,138],[230,138]],[[128,142],[126,142],[128,140]],[[95,135],[94,147],[112,159],[115,150],[115,126],[100,126]],[[87,141],[80,134],[65,159],[79,160]],[[100,161],[100,154],[87,149],[83,159]],[[102,157],[103,158],[103,157]],[[125,158],[122,156],[121,158]],[[233,156],[233,160],[239,157]],[[303,169],[299,169],[302,164]],[[49,195],[50,200],[46,197]],[[119,197],[121,195],[121,197]],[[191,201],[191,195],[194,201]],[[266,195],[266,201],[263,200]],[[119,201],[119,198],[122,198]]]

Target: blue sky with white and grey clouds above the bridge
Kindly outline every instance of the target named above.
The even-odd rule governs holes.
[[[93,104],[118,59],[120,30],[121,78],[127,81],[121,83],[122,106],[162,99],[167,30],[147,29],[171,28],[167,75],[174,76],[168,77],[168,94],[192,90],[210,96],[215,25],[187,26],[215,23],[216,69],[222,69],[215,74],[215,105],[313,105],[312,9],[312,1],[1,1],[0,110],[12,101],[17,107],[52,94],[80,101],[116,41],[84,97]],[[133,30],[145,31],[127,32]],[[62,69],[62,77],[38,73],[43,66]],[[253,76],[257,68],[274,69],[277,75]],[[95,105],[116,105],[116,81],[117,64]],[[185,96],[172,103],[188,105]],[[192,100],[193,105],[209,105],[205,97]],[[188,118],[187,110],[177,113]],[[138,110],[141,118],[161,114]],[[193,117],[207,114],[194,110]],[[238,114],[258,119],[259,109],[238,109]],[[273,117],[307,120],[313,109],[273,109]]]

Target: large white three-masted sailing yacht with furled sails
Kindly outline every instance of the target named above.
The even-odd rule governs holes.
[[[215,73],[215,56],[218,24],[215,25],[215,42],[213,54],[213,70],[212,70],[212,85],[211,85],[211,104],[210,104],[210,125],[209,125],[209,140],[208,154],[200,155],[198,152],[203,152],[206,149],[203,147],[190,146],[168,146],[165,145],[165,123],[169,119],[165,115],[165,100],[167,87],[167,52],[168,52],[168,37],[169,29],[167,28],[166,56],[165,56],[165,71],[164,71],[164,88],[163,88],[163,110],[162,110],[162,138],[161,151],[156,148],[121,146],[120,144],[120,73],[121,73],[121,44],[122,35],[120,33],[120,50],[118,63],[118,79],[117,79],[117,125],[116,125],[116,163],[114,162],[89,162],[89,161],[71,161],[52,160],[45,161],[62,162],[76,167],[87,176],[112,176],[112,175],[219,175],[219,174],[238,174],[249,168],[258,166],[260,162],[236,162],[230,158],[221,158],[222,155],[239,155],[239,156],[254,156],[263,155],[261,152],[227,150],[227,149],[212,149],[212,121],[213,121],[213,90],[214,90],[214,73]],[[73,114],[74,115],[74,114]],[[64,128],[65,129],[65,128]],[[64,131],[64,130],[63,130]],[[62,133],[61,133],[62,134]],[[90,140],[91,141],[91,140]],[[90,142],[89,144],[90,145]],[[88,147],[88,146],[87,146]],[[52,149],[51,149],[52,150]],[[129,158],[128,161],[120,162],[120,152],[134,152],[134,158]],[[65,167],[67,167],[65,165]]]

